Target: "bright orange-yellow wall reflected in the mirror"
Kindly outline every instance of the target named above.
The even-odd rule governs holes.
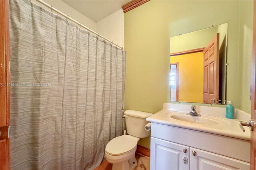
[[[170,57],[179,63],[179,101],[203,102],[203,52]]]

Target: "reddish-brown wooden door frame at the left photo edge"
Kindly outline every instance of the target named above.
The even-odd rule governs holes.
[[[6,127],[10,125],[9,0],[0,0],[0,28],[0,127]],[[6,149],[0,153],[0,169],[9,170],[10,138],[0,143],[0,150]]]

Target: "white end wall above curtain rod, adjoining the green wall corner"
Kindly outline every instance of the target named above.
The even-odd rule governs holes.
[[[97,22],[97,32],[124,47],[124,12],[122,9]]]

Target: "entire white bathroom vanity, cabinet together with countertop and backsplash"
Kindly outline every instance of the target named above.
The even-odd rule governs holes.
[[[164,103],[146,119],[151,122],[150,169],[249,170],[249,128],[243,132],[238,119],[226,119],[225,108],[198,106],[202,116],[195,117],[186,115],[190,107]]]

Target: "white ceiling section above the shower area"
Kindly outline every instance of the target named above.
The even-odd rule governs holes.
[[[94,22],[120,10],[130,0],[62,0]]]

